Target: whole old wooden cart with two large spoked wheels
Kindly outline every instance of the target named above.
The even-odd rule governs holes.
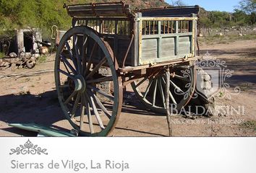
[[[80,135],[106,136],[113,130],[128,84],[155,112],[165,112],[166,94],[177,110],[187,105],[195,91],[198,6],[132,11],[119,2],[65,7],[72,29],[56,53],[56,89],[64,115]]]

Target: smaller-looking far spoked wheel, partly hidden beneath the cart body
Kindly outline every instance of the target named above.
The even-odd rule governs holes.
[[[195,69],[193,66],[175,67],[170,68],[170,74],[169,104],[172,112],[178,113],[195,91]],[[150,110],[166,112],[166,74],[163,70],[133,82],[132,89],[140,102]]]

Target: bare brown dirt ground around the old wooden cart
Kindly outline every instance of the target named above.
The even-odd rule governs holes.
[[[202,55],[226,61],[227,68],[234,70],[228,79],[232,87],[239,86],[240,94],[231,94],[231,99],[217,99],[219,106],[234,107],[240,111],[189,119],[173,116],[173,136],[256,136],[256,40],[238,40],[229,44],[201,45]],[[32,70],[9,68],[0,71],[0,76],[30,71],[54,69],[54,57],[40,63]],[[0,136],[35,136],[25,130],[10,128],[8,123],[39,123],[53,125],[61,130],[72,129],[64,119],[59,106],[54,84],[54,73],[38,76],[0,80]],[[128,87],[128,92],[131,92]],[[132,95],[132,94],[131,94]],[[134,101],[135,100],[135,101]],[[127,99],[121,117],[110,136],[168,136],[166,117],[158,115],[137,101]]]

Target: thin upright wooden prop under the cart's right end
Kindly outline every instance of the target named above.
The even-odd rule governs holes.
[[[170,69],[166,69],[166,117],[168,123],[168,131],[169,136],[172,136],[172,128],[171,128],[171,112],[170,112],[170,105],[169,105],[169,91],[170,91]]]

